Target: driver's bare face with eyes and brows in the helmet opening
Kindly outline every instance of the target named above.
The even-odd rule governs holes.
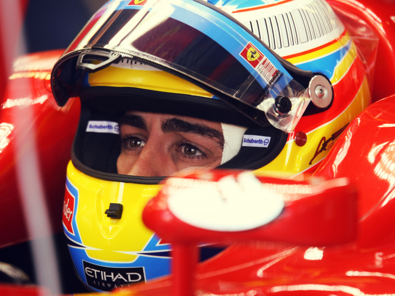
[[[163,177],[191,167],[221,164],[221,123],[189,116],[127,111],[119,120],[118,174]]]

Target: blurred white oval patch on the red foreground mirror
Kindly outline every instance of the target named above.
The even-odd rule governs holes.
[[[171,190],[167,206],[178,219],[215,231],[243,231],[265,225],[284,208],[281,195],[262,188],[252,173],[218,183]]]

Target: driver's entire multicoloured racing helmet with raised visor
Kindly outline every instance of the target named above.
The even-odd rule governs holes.
[[[63,225],[89,289],[169,274],[171,245],[141,220],[166,176],[118,173],[126,111],[219,122],[218,167],[273,176],[314,170],[370,103],[353,39],[325,1],[255,2],[110,0],[55,64],[58,105],[81,101]]]

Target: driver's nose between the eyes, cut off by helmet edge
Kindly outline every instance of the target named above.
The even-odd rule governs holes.
[[[131,176],[166,177],[176,172],[171,153],[166,151],[160,139],[151,138],[142,148],[137,160],[128,172]]]

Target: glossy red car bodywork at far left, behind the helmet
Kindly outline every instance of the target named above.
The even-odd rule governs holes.
[[[0,207],[7,209],[0,216],[0,224],[8,225],[1,231],[0,246],[34,238],[29,236],[23,219],[15,159],[16,137],[24,139],[29,135],[36,143],[35,147],[18,147],[18,155],[23,158],[31,149],[37,150],[40,164],[37,174],[42,181],[52,231],[62,231],[59,213],[66,166],[78,125],[79,100],[75,100],[69,110],[62,111],[46,87],[45,78],[61,53],[55,50],[19,58],[0,102]]]

